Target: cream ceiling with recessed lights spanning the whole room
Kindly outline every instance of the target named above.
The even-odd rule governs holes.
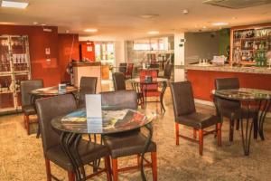
[[[1,1],[1,0],[0,0]],[[271,22],[271,4],[228,9],[203,5],[202,0],[29,0],[24,9],[0,7],[0,24],[48,24],[59,32],[132,39],[149,36],[148,31],[162,34],[218,28],[213,22],[229,26]],[[188,9],[189,14],[182,14]],[[159,14],[144,19],[142,14]],[[97,28],[98,33],[84,33]]]

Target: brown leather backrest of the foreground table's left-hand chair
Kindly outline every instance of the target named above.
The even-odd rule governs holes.
[[[60,132],[52,128],[51,119],[76,110],[76,101],[71,94],[66,94],[36,100],[35,103],[42,135],[43,152],[46,154],[49,148],[60,144]]]

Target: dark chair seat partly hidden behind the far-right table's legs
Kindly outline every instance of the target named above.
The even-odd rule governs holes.
[[[228,119],[252,119],[257,117],[257,110],[250,110],[248,114],[248,110],[245,108],[239,108],[239,109],[229,109],[224,108],[222,110],[223,117],[226,117]]]

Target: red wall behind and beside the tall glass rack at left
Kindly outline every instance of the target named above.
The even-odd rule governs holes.
[[[32,79],[42,79],[44,86],[56,85],[61,81],[58,62],[58,28],[43,32],[41,26],[0,25],[0,34],[28,35]],[[45,48],[50,48],[50,55],[45,55]],[[46,62],[51,59],[51,62]]]

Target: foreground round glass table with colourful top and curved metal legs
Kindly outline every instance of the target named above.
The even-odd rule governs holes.
[[[87,118],[86,110],[75,110],[67,115],[52,119],[51,126],[61,131],[61,147],[75,168],[77,180],[86,179],[77,148],[82,134],[108,135],[142,127],[146,128],[148,130],[148,137],[145,147],[142,150],[140,162],[142,180],[146,180],[143,159],[153,137],[151,123],[154,118],[154,113],[146,113],[143,110],[103,110],[102,118],[100,119]],[[76,152],[74,152],[73,148],[76,148]]]

